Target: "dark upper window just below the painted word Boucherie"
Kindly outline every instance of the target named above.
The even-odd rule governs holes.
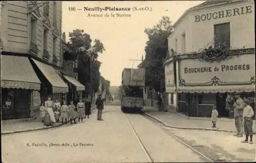
[[[214,43],[215,47],[221,46],[230,48],[230,23],[214,25]]]

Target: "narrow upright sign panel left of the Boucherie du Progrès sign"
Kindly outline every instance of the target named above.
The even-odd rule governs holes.
[[[164,67],[165,74],[165,88],[175,87],[174,84],[174,65],[173,63],[168,63]]]

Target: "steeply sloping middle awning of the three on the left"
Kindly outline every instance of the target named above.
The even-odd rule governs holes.
[[[68,85],[61,79],[55,69],[45,63],[41,63],[35,59],[32,59],[42,74],[45,75],[47,80],[52,84],[53,93],[66,93],[69,91]]]

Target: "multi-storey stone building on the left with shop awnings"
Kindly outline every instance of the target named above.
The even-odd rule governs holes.
[[[68,92],[61,79],[59,1],[1,3],[2,119],[31,118],[48,96]]]

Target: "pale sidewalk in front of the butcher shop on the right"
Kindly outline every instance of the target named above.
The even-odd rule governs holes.
[[[177,113],[159,112],[153,107],[146,107],[144,112],[153,119],[161,122],[167,127],[180,129],[214,130],[224,132],[236,132],[233,119],[220,118],[217,121],[217,128],[211,128],[210,118],[190,119]],[[255,132],[255,120],[253,120],[253,132]]]

